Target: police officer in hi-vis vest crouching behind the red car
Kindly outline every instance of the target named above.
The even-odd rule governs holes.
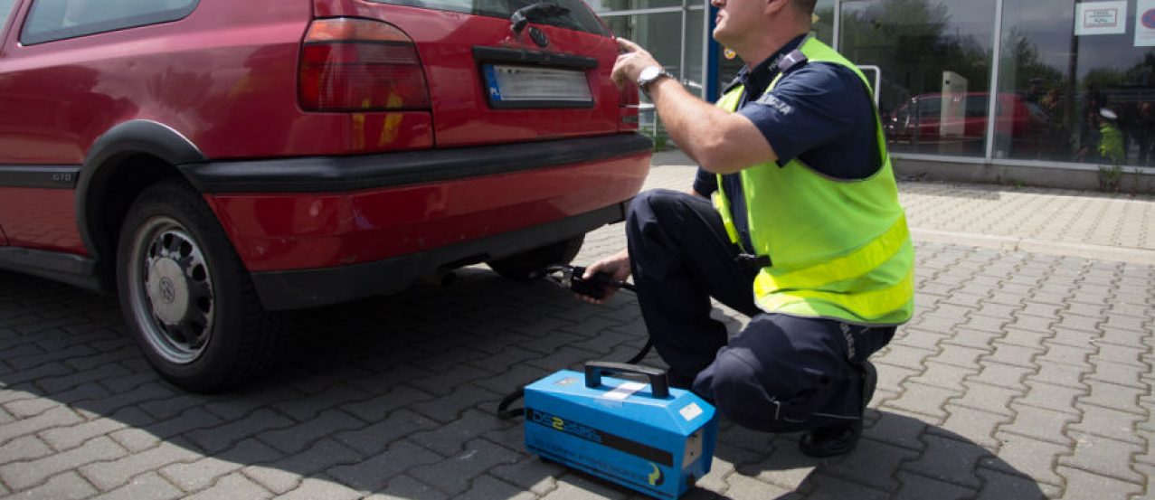
[[[587,277],[633,275],[672,385],[739,425],[805,431],[824,457],[858,441],[866,358],[912,314],[914,248],[870,85],[810,35],[814,2],[711,0],[714,38],[746,64],[716,106],[618,40],[613,80],[649,95],[700,169],[691,193],[640,194],[627,248]],[[751,316],[733,338],[711,297]]]

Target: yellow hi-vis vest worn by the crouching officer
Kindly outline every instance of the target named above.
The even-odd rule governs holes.
[[[870,89],[862,72],[826,44],[808,37],[799,50],[810,64],[850,68]],[[766,92],[781,79],[780,73]],[[742,85],[731,89],[718,107],[736,111],[743,91]],[[860,324],[910,320],[915,251],[877,110],[874,120],[882,166],[867,179],[832,179],[798,158],[782,167],[767,162],[739,173],[754,246],[743,249],[770,259],[770,266],[754,278],[754,300],[760,309]],[[722,176],[714,206],[730,240],[744,246]]]

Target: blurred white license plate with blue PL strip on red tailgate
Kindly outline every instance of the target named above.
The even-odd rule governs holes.
[[[538,66],[484,65],[493,107],[590,107],[586,72]]]

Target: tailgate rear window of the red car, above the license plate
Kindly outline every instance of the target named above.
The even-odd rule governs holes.
[[[422,7],[437,10],[450,10],[455,13],[474,14],[482,16],[492,17],[505,17],[508,18],[513,13],[519,9],[529,7],[535,3],[546,3],[537,0],[371,0],[378,3],[393,3],[400,6],[409,7]],[[586,6],[582,0],[552,0],[547,3],[553,3],[564,7],[566,13],[556,14],[546,13],[541,14],[546,10],[538,10],[538,14],[531,15],[530,22],[537,24],[549,24],[559,28],[567,28],[571,30],[586,31],[589,33],[609,36],[610,32],[605,29],[602,22],[597,18],[593,10]]]

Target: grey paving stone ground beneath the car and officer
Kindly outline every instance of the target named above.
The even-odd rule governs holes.
[[[658,166],[648,187],[692,176]],[[857,450],[812,460],[795,434],[723,421],[686,498],[1155,498],[1155,199],[900,191],[917,313],[873,358]],[[623,244],[620,224],[597,230],[578,262]],[[527,455],[521,423],[494,416],[519,385],[632,356],[631,294],[593,306],[470,267],[291,320],[281,368],[195,395],[149,370],[113,298],[0,273],[0,497],[640,498]]]

